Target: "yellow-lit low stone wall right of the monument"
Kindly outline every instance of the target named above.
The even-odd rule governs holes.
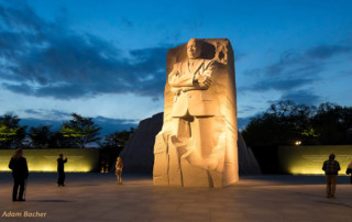
[[[322,164],[331,153],[340,163],[339,174],[344,175],[348,165],[352,162],[352,145],[327,146],[280,146],[278,162],[280,169],[293,175],[322,175]]]

